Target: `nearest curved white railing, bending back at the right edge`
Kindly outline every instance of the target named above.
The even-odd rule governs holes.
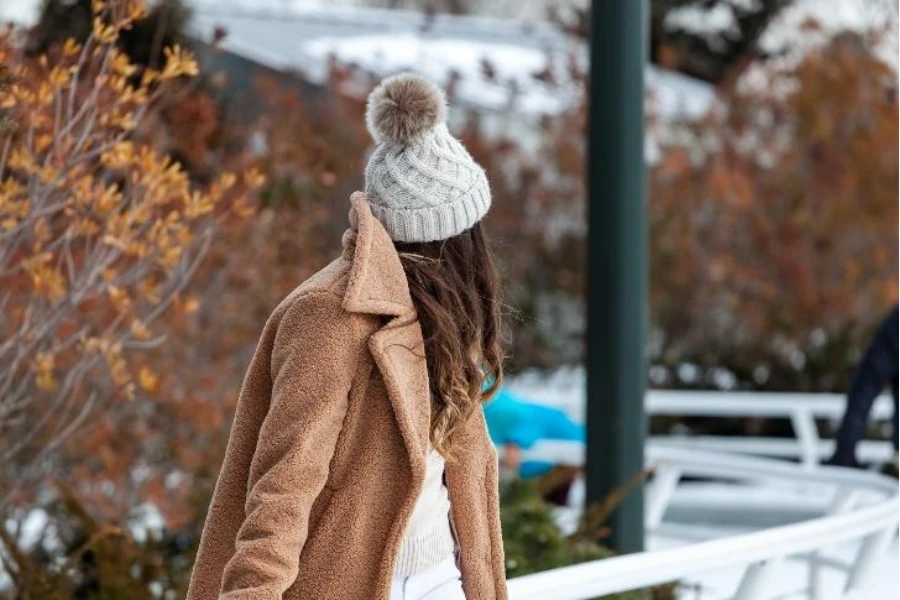
[[[700,454],[692,450],[650,448],[649,459],[664,476],[648,494],[648,520],[658,524],[678,482],[683,477],[719,477],[729,480],[807,482],[835,491],[834,514],[669,550],[658,550],[563,567],[511,579],[511,600],[584,600],[605,594],[659,585],[705,572],[745,567],[735,600],[773,597],[768,589],[775,567],[787,559],[809,562],[809,594],[817,597],[821,565],[817,553],[831,545],[861,541],[847,567],[844,597],[870,598],[875,562],[882,558],[897,533],[897,482],[865,471],[820,467],[815,471],[770,459]],[[860,491],[880,499],[857,505]],[[648,523],[652,529],[654,523]],[[804,556],[806,555],[806,556]],[[768,591],[767,591],[768,590]],[[768,594],[768,595],[767,595]]]

